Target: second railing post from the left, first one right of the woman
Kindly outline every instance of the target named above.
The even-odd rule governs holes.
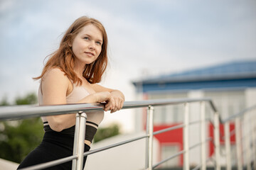
[[[154,108],[149,106],[147,111],[147,116],[149,118],[149,140],[148,140],[148,169],[153,169],[153,131],[154,131],[154,124],[153,124],[153,112]]]

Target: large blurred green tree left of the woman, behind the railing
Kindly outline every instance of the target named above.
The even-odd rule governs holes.
[[[4,102],[3,102],[4,101]],[[36,94],[18,96],[16,105],[37,103]],[[6,98],[1,106],[8,106]],[[43,138],[43,123],[40,118],[13,120],[0,123],[0,157],[20,163],[26,155],[38,146]]]

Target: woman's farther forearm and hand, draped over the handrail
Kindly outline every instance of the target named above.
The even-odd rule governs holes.
[[[92,89],[94,89],[96,93],[102,91],[110,92],[112,100],[110,100],[110,102],[107,102],[107,104],[105,105],[105,111],[111,110],[110,113],[114,113],[115,111],[119,111],[124,105],[124,94],[122,94],[121,91],[108,89],[104,86],[100,86],[99,84],[92,84]]]

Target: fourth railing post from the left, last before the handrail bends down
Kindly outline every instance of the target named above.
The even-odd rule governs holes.
[[[206,170],[206,102],[201,102],[201,169]]]

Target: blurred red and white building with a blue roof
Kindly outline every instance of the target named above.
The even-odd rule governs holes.
[[[238,113],[247,107],[256,104],[256,60],[230,62],[194,69],[177,74],[163,75],[152,79],[134,81],[139,99],[157,98],[203,98],[213,99],[213,103],[218,108],[221,118]],[[200,106],[198,103],[190,105],[190,121],[200,118]],[[183,105],[164,106],[154,108],[154,131],[168,128],[183,123]],[[211,118],[210,107],[206,107],[206,117]],[[136,114],[137,130],[144,130],[146,115]],[[230,131],[235,128],[230,123]],[[213,137],[213,127],[210,123],[206,127],[208,137]],[[190,142],[191,145],[200,142],[199,125],[191,126]],[[220,125],[220,134],[223,134],[223,125]],[[168,137],[161,134],[156,135],[159,140],[160,149],[159,161],[169,157],[183,149],[182,129],[167,132]],[[235,137],[231,137],[231,144],[235,143]],[[224,149],[223,140],[220,140],[220,147]],[[208,143],[207,154],[213,154],[213,144]],[[235,152],[235,149],[232,149]],[[200,149],[191,150],[191,165],[200,163]],[[235,154],[232,154],[235,161]],[[224,159],[225,161],[225,159]],[[223,161],[223,164],[225,163]],[[176,157],[166,162],[164,166],[181,166],[183,157]]]

